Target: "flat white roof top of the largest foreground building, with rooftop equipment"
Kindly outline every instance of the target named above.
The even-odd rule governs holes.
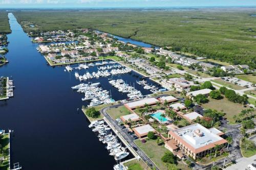
[[[196,135],[195,132],[198,130],[202,136]],[[174,130],[174,132],[195,149],[204,147],[209,143],[213,143],[222,139],[220,136],[216,135],[215,133],[211,133],[210,130],[206,129],[200,124],[189,125]]]

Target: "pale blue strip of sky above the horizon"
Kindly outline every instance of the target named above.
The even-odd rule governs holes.
[[[0,0],[0,8],[256,6],[256,0]]]

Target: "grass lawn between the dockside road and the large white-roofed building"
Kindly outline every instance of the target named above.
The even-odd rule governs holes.
[[[168,150],[164,147],[164,145],[157,145],[156,140],[147,140],[145,143],[142,143],[140,139],[134,141],[138,147],[146,153],[146,155],[161,169],[167,170],[167,167],[164,162],[162,162],[161,158],[164,153]],[[181,162],[178,162],[178,168],[182,170],[190,170],[190,168],[186,167]]]

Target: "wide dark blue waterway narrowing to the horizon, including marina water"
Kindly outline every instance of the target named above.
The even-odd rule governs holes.
[[[37,44],[13,14],[8,16],[10,63],[0,67],[0,74],[12,77],[16,89],[14,98],[0,102],[0,129],[14,130],[11,163],[19,162],[23,169],[113,169],[116,161],[88,128],[86,116],[77,112],[86,103],[70,88],[79,83],[74,72],[46,64]],[[122,76],[132,84],[140,77],[135,72]]]

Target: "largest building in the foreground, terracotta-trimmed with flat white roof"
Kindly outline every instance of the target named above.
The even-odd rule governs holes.
[[[223,133],[220,133],[217,129],[206,129],[200,124],[193,124],[171,130],[168,132],[168,137],[174,141],[175,146],[170,145],[172,149],[169,150],[172,151],[179,148],[182,153],[193,159],[202,158],[211,153],[211,150],[214,149],[216,145],[225,147],[227,141],[218,134],[223,135]],[[220,147],[219,150],[222,149],[222,147]]]

